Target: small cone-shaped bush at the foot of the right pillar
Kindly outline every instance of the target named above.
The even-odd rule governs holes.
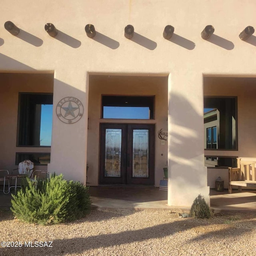
[[[194,200],[190,209],[190,216],[200,219],[211,217],[210,207],[205,202],[203,196],[198,195],[198,197]]]

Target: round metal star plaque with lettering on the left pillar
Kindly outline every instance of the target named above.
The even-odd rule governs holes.
[[[66,124],[74,124],[84,114],[84,107],[77,98],[66,97],[58,102],[56,114],[60,121]]]

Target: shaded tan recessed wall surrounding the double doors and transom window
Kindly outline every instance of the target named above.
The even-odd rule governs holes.
[[[158,130],[168,130],[168,77],[148,76],[90,76],[88,106],[88,147],[89,186],[98,185],[100,123],[155,124],[155,186],[164,177],[163,168],[167,167],[168,143],[162,145]],[[101,96],[129,95],[155,96],[154,119],[101,119]],[[161,155],[163,154],[163,155]]]

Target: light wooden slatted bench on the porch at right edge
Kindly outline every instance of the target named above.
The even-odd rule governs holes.
[[[232,193],[232,186],[256,188],[255,181],[256,158],[237,158],[237,168],[228,168],[228,192]]]

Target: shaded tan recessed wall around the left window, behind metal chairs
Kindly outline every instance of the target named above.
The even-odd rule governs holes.
[[[50,147],[17,147],[17,121],[19,92],[53,92],[53,74],[12,74],[0,73],[0,166],[12,171],[16,152],[49,153]],[[47,170],[47,166],[35,166],[37,170]]]

